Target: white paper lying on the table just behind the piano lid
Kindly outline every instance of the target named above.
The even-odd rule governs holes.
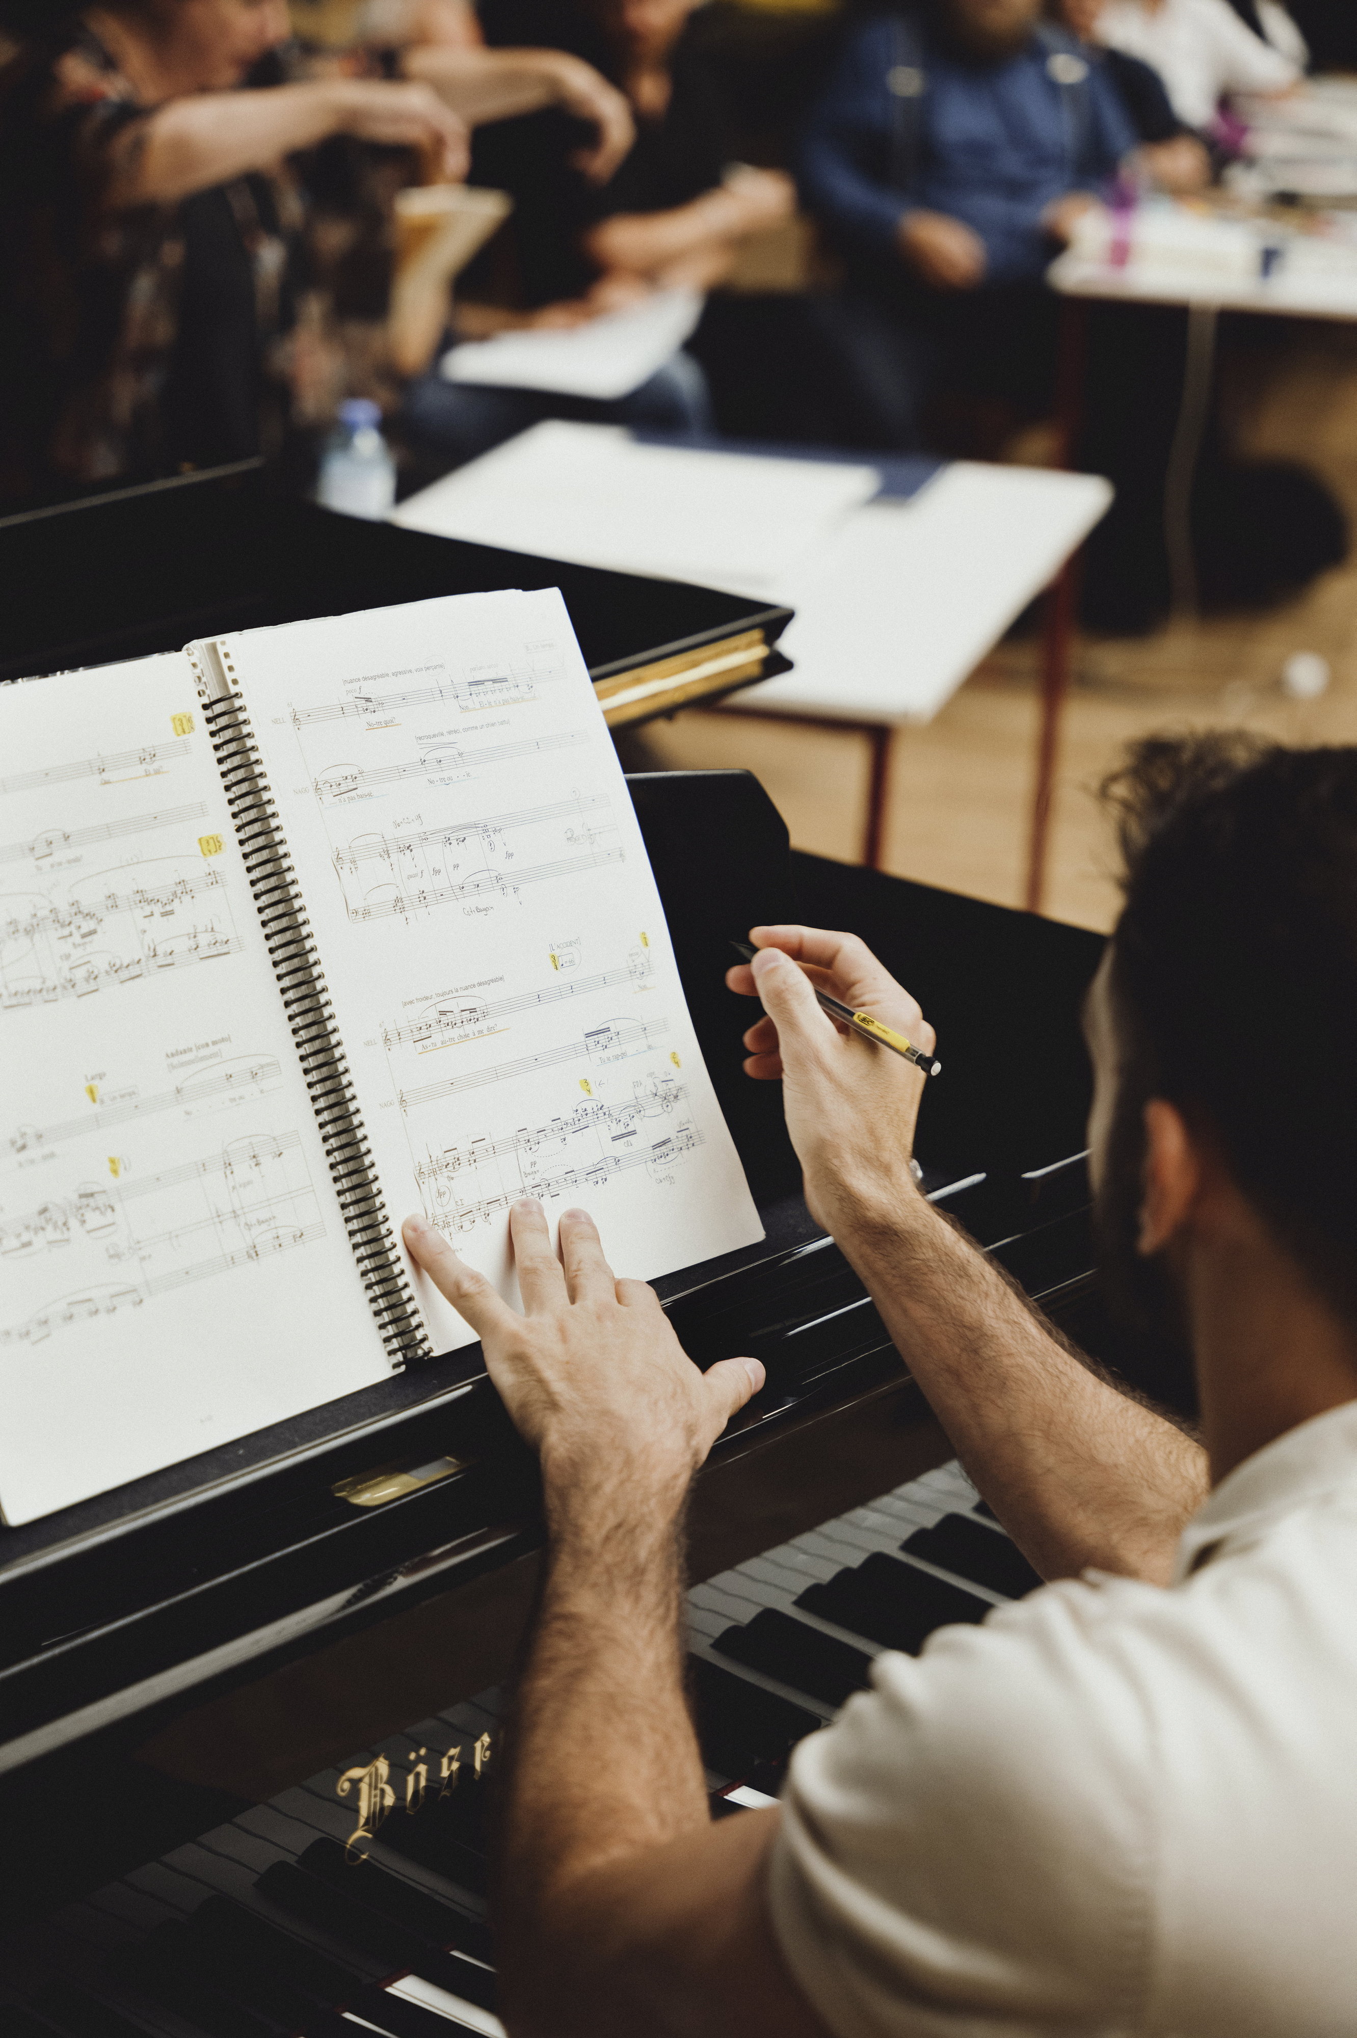
[[[772,601],[878,487],[866,465],[644,446],[623,426],[548,420],[412,495],[393,522]]]

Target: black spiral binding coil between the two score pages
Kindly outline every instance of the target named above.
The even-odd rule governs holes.
[[[220,689],[204,671],[200,652],[206,652],[220,666]],[[198,675],[204,719],[265,946],[330,1162],[348,1243],[377,1319],[377,1331],[395,1370],[410,1359],[430,1357],[432,1347],[424,1335],[420,1308],[410,1290],[377,1184],[373,1151],[363,1131],[344,1043],[320,966],[320,952],[312,940],[297,872],[283,842],[249,709],[236,691],[230,648],[220,642],[196,644],[189,658]]]

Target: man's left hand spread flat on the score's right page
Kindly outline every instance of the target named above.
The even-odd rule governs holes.
[[[538,1451],[554,1496],[603,1498],[640,1473],[650,1504],[683,1506],[689,1482],[729,1418],[764,1384],[758,1359],[693,1365],[654,1288],[617,1280],[587,1211],[560,1219],[560,1257],[546,1213],[509,1213],[524,1315],[444,1235],[408,1217],[405,1245],[481,1339],[485,1365],[518,1431]]]

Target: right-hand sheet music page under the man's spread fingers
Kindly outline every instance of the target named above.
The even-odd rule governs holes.
[[[648,1280],[762,1237],[560,595],[226,638],[393,1227],[515,1296],[507,1213]],[[434,1349],[473,1341],[416,1274]]]

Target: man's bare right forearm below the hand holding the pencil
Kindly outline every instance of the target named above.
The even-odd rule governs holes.
[[[1043,1577],[1168,1579],[1206,1453],[1068,1351],[913,1188],[839,1192],[833,1235],[958,1457]]]

